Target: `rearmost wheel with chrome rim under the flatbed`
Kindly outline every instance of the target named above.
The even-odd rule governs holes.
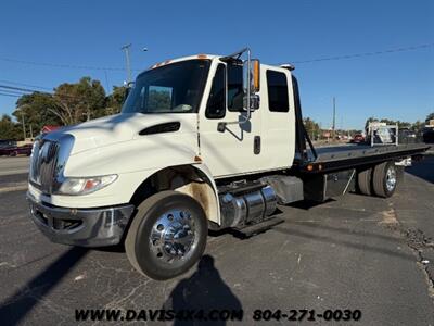
[[[398,171],[394,162],[384,162],[373,170],[373,192],[378,197],[388,198],[394,195],[398,184]]]

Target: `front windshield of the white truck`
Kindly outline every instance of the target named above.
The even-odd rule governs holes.
[[[122,112],[197,112],[209,64],[209,60],[189,60],[140,74]]]

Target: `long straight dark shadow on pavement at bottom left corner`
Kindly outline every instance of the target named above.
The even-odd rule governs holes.
[[[1,302],[0,324],[18,324],[38,301],[43,299],[68,274],[69,269],[84,259],[87,252],[87,249],[79,247],[69,249],[39,275],[27,281],[22,289]]]

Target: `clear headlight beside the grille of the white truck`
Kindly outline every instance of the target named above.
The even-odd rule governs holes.
[[[87,195],[100,190],[117,179],[116,174],[86,177],[68,178],[66,177],[56,191],[58,195]]]

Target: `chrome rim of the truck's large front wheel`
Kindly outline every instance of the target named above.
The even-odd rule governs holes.
[[[196,247],[194,216],[187,210],[171,210],[161,215],[152,226],[150,247],[162,262],[188,259]]]

